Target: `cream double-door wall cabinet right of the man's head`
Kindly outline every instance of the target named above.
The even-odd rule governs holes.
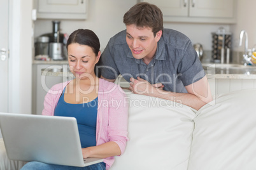
[[[156,4],[164,22],[235,23],[236,0],[142,0]]]

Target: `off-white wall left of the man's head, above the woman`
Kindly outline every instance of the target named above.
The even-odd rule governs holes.
[[[93,30],[101,42],[101,50],[113,35],[125,29],[123,16],[137,0],[97,0],[89,1],[87,20],[61,20],[60,32],[71,34],[76,29]],[[38,19],[35,22],[35,36],[52,32],[52,20]]]

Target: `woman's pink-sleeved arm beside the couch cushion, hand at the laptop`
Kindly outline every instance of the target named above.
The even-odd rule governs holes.
[[[102,100],[108,100],[108,108],[104,108],[103,119],[108,119],[108,126],[103,125],[103,131],[108,138],[107,142],[96,147],[83,148],[83,157],[106,158],[122,155],[125,150],[128,129],[128,106],[124,91],[119,86],[113,87],[108,95]],[[107,107],[107,106],[101,106]],[[99,110],[98,110],[99,112]],[[103,133],[103,132],[102,132]]]

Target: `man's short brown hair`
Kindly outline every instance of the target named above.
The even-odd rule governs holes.
[[[164,29],[162,11],[154,4],[146,2],[132,6],[124,15],[124,23],[135,24],[139,28],[150,27],[154,36]]]

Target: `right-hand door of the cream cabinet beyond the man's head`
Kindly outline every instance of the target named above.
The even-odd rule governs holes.
[[[232,18],[234,0],[191,0],[189,16]]]

